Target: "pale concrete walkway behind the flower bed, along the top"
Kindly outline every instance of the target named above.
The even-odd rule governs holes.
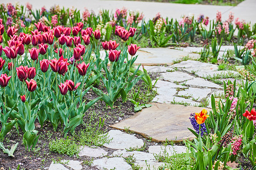
[[[15,3],[16,0],[2,0],[1,3]],[[60,5],[60,7],[72,7],[83,11],[84,7],[89,10],[94,10],[96,14],[101,8],[106,10],[115,11],[116,8],[122,8],[125,6],[128,10],[142,11],[146,19],[152,19],[160,12],[164,18],[176,18],[180,19],[183,15],[189,13],[195,14],[197,17],[199,14],[209,16],[210,19],[216,18],[216,12],[222,12],[222,18],[228,19],[229,12],[234,12],[234,17],[245,19],[247,22],[256,23],[256,1],[245,0],[236,7],[233,6],[212,6],[212,5],[186,5],[179,3],[160,3],[160,2],[140,2],[140,1],[101,1],[101,0],[44,0],[44,1],[28,1],[19,0],[20,4],[26,5],[30,2],[33,8],[41,8],[46,6],[49,9],[54,4]]]

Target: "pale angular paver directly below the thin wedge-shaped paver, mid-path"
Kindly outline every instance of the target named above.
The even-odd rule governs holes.
[[[201,100],[204,97],[207,97],[212,90],[210,88],[193,88],[189,87],[188,89],[185,89],[184,91],[179,91],[178,95],[189,95],[192,96],[195,99]]]

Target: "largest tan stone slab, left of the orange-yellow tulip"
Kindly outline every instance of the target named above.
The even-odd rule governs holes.
[[[192,106],[167,103],[151,103],[152,107],[142,109],[141,112],[114,124],[116,129],[129,128],[143,137],[152,138],[152,141],[162,142],[192,140],[195,136],[187,129],[193,129],[189,116],[192,112],[201,112],[203,109]]]

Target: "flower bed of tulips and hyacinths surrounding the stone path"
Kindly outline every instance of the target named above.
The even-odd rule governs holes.
[[[97,134],[108,129],[108,124],[113,124],[117,117],[134,114],[134,103],[127,99],[133,98],[131,101],[136,103],[140,92],[154,97],[147,71],[133,67],[140,48],[135,42],[146,39],[154,47],[203,40],[201,60],[208,61],[208,42],[217,60],[222,42],[243,45],[256,33],[255,24],[250,27],[238,19],[233,28],[233,14],[222,22],[220,12],[216,22],[203,15],[197,20],[184,16],[177,22],[158,14],[146,23],[139,12],[129,12],[127,16],[125,8],[115,14],[102,10],[100,15],[85,10],[81,19],[80,11],[75,9],[53,6],[50,11],[43,7],[34,12],[29,4],[26,10],[9,3],[7,7],[0,6],[0,16],[0,148],[9,156],[14,156],[16,150],[19,160],[24,159],[24,150],[31,158],[35,158],[35,153],[43,154],[45,159],[49,152],[45,146],[56,138],[71,138],[73,148],[82,139],[81,135],[72,134],[79,134],[94,123],[92,130]],[[205,28],[208,24],[210,29]],[[181,165],[181,169],[229,168],[230,163],[242,159],[248,162],[241,167],[256,167],[255,40],[248,41],[244,50],[238,50],[236,44],[234,47],[237,61],[245,65],[240,74],[247,81],[238,90],[236,82],[224,82],[225,97],[216,101],[212,96],[209,114],[205,110],[191,113],[194,130],[189,130],[196,139],[184,141],[190,154],[187,152],[186,165]],[[105,50],[104,58],[100,49]],[[141,91],[131,92],[135,87]],[[142,100],[148,103],[150,97]],[[14,144],[6,149],[5,145],[10,146],[14,140],[23,145]],[[57,156],[51,152],[47,164]],[[37,161],[24,164],[28,168],[44,165],[45,160]],[[5,167],[13,165],[8,159],[1,162]]]

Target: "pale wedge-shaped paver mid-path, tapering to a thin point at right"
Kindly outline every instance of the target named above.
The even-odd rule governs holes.
[[[209,88],[222,88],[220,85],[209,82],[202,78],[193,78],[185,82],[186,85],[190,87],[209,87]]]

